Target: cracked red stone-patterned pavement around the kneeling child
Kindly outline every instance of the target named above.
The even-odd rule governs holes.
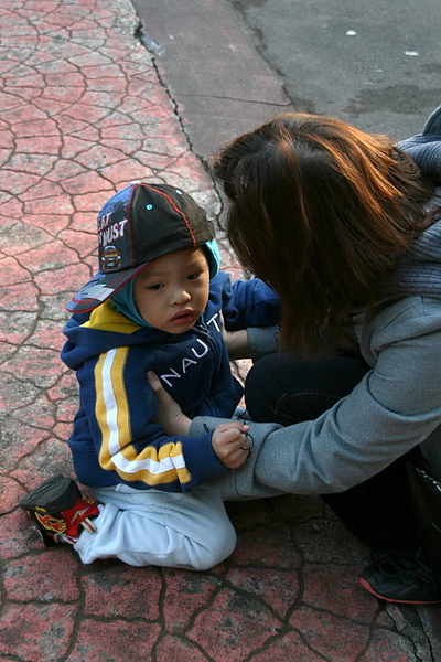
[[[208,573],[83,567],[67,546],[46,551],[17,505],[42,479],[72,473],[77,392],[60,330],[64,302],[95,269],[101,203],[142,178],[219,211],[135,26],[128,0],[0,9],[0,659],[433,661],[427,612],[363,591],[367,551],[319,499],[230,504],[238,546]]]

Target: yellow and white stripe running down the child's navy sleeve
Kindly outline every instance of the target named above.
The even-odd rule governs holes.
[[[191,480],[185,467],[181,441],[138,451],[132,445],[130,409],[123,383],[128,348],[117,348],[101,354],[95,366],[95,415],[101,431],[99,463],[115,470],[126,481],[142,481],[159,485]]]

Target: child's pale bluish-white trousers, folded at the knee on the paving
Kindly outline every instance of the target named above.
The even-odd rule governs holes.
[[[74,545],[84,564],[119,558],[132,566],[206,570],[236,546],[236,532],[217,490],[184,494],[119,484],[92,493],[100,503],[97,530],[84,531]]]

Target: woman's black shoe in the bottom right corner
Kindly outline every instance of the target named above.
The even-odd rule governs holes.
[[[417,558],[384,556],[362,574],[362,586],[381,600],[433,605],[441,602],[441,589],[433,572]]]

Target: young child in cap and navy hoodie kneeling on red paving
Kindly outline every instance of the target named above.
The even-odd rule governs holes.
[[[223,325],[243,342],[248,327],[279,321],[279,300],[258,279],[232,285],[218,273],[204,210],[170,185],[116,193],[98,215],[98,274],[67,305],[62,351],[79,382],[68,444],[96,501],[55,476],[21,505],[46,546],[71,543],[85,564],[206,569],[232,554],[236,534],[220,494],[202,483],[246,461],[248,426],[166,436],[148,373],[186,416],[232,417],[241,386]]]

